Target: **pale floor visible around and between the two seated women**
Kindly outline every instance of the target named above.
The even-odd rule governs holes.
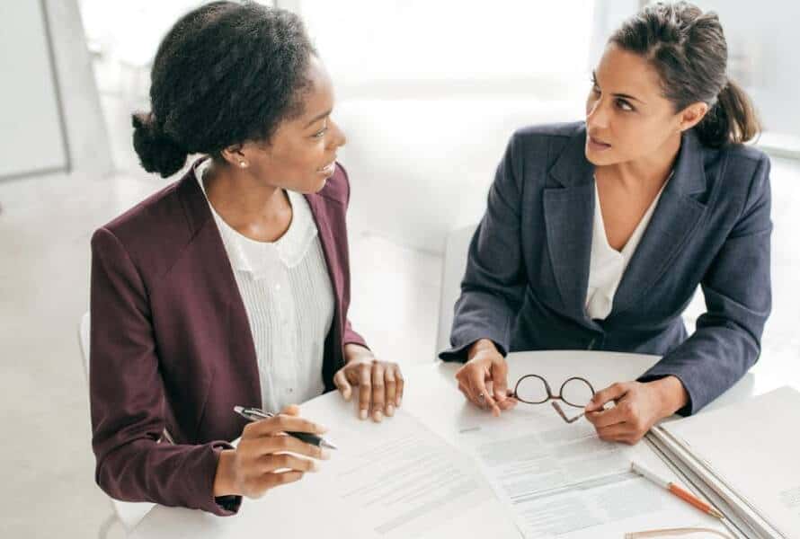
[[[89,238],[164,181],[136,172],[125,110],[106,104],[120,173],[0,182],[0,535],[93,537],[110,515],[93,483],[86,383],[77,323],[88,305]],[[775,309],[762,361],[800,376],[800,164],[773,170]],[[381,358],[432,361],[441,257],[351,231],[351,319]],[[112,536],[120,535],[115,530]]]

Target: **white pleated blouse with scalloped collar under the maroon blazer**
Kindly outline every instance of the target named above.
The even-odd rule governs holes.
[[[204,195],[210,163],[195,173]],[[271,412],[324,393],[324,341],[333,323],[333,287],[314,216],[302,195],[287,193],[292,220],[274,243],[239,234],[209,202],[250,322],[262,408]]]

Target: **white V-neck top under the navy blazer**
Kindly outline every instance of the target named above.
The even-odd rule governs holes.
[[[671,176],[670,176],[671,178]],[[622,275],[627,269],[627,264],[636,252],[636,247],[642,239],[650,218],[664,187],[670,181],[664,181],[661,190],[653,199],[650,208],[644,212],[642,220],[636,225],[636,230],[622,248],[617,251],[609,245],[606,237],[606,225],[603,223],[603,212],[600,208],[600,195],[597,191],[597,180],[594,181],[594,225],[591,233],[591,259],[589,262],[589,287],[586,292],[586,314],[592,320],[605,320],[614,305],[614,295],[622,280]]]

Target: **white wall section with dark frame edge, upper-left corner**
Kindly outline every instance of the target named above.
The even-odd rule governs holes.
[[[3,2],[0,19],[0,178],[111,172],[76,0]]]

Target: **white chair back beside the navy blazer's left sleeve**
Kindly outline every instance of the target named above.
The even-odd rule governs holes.
[[[444,250],[439,300],[439,331],[436,353],[450,347],[450,330],[453,325],[453,307],[461,295],[461,279],[467,270],[467,252],[477,225],[468,225],[450,232]]]

